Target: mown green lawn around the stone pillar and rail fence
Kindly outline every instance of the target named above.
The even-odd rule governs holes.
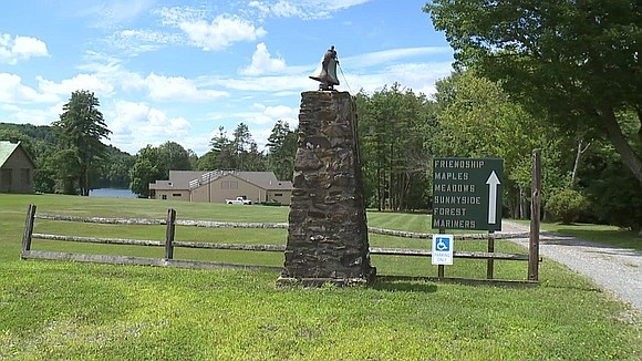
[[[286,221],[287,207],[0,195],[0,359],[8,360],[639,360],[632,311],[545,260],[537,288],[379,281],[372,288],[283,289],[271,271],[189,270],[20,260],[28,204],[64,215]],[[369,213],[373,227],[428,231],[425,215]],[[163,239],[163,226],[38,219],[39,233]],[[284,244],[284,229],[177,227],[177,240]],[[371,246],[427,248],[371,235]],[[457,249],[484,249],[459,241]],[[508,241],[498,251],[524,252]],[[35,239],[33,249],[162,257],[162,248]],[[266,266],[282,255],[176,249],[176,258]],[[379,274],[434,276],[429,259],[373,257]],[[455,260],[447,276],[485,276]],[[496,262],[525,279],[526,262]]]

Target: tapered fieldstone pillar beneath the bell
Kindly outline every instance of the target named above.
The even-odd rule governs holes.
[[[288,245],[278,285],[369,285],[356,106],[348,92],[301,94]]]

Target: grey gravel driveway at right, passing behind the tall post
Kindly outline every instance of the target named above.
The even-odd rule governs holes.
[[[528,226],[506,221],[503,233],[528,231]],[[527,238],[512,239],[528,247]],[[539,255],[592,279],[618,299],[642,311],[642,252],[553,234],[541,234]]]

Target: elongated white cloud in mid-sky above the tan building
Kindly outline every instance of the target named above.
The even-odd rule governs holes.
[[[201,102],[229,95],[227,92],[198,89],[183,76],[162,76],[154,73],[145,80],[149,97],[156,101]]]

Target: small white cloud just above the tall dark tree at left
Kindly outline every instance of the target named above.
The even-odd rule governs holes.
[[[99,74],[77,74],[61,82],[45,80],[42,76],[37,76],[35,79],[38,80],[39,89],[44,93],[70,95],[77,90],[87,90],[94,92],[99,99],[114,93],[114,86],[111,82]]]

